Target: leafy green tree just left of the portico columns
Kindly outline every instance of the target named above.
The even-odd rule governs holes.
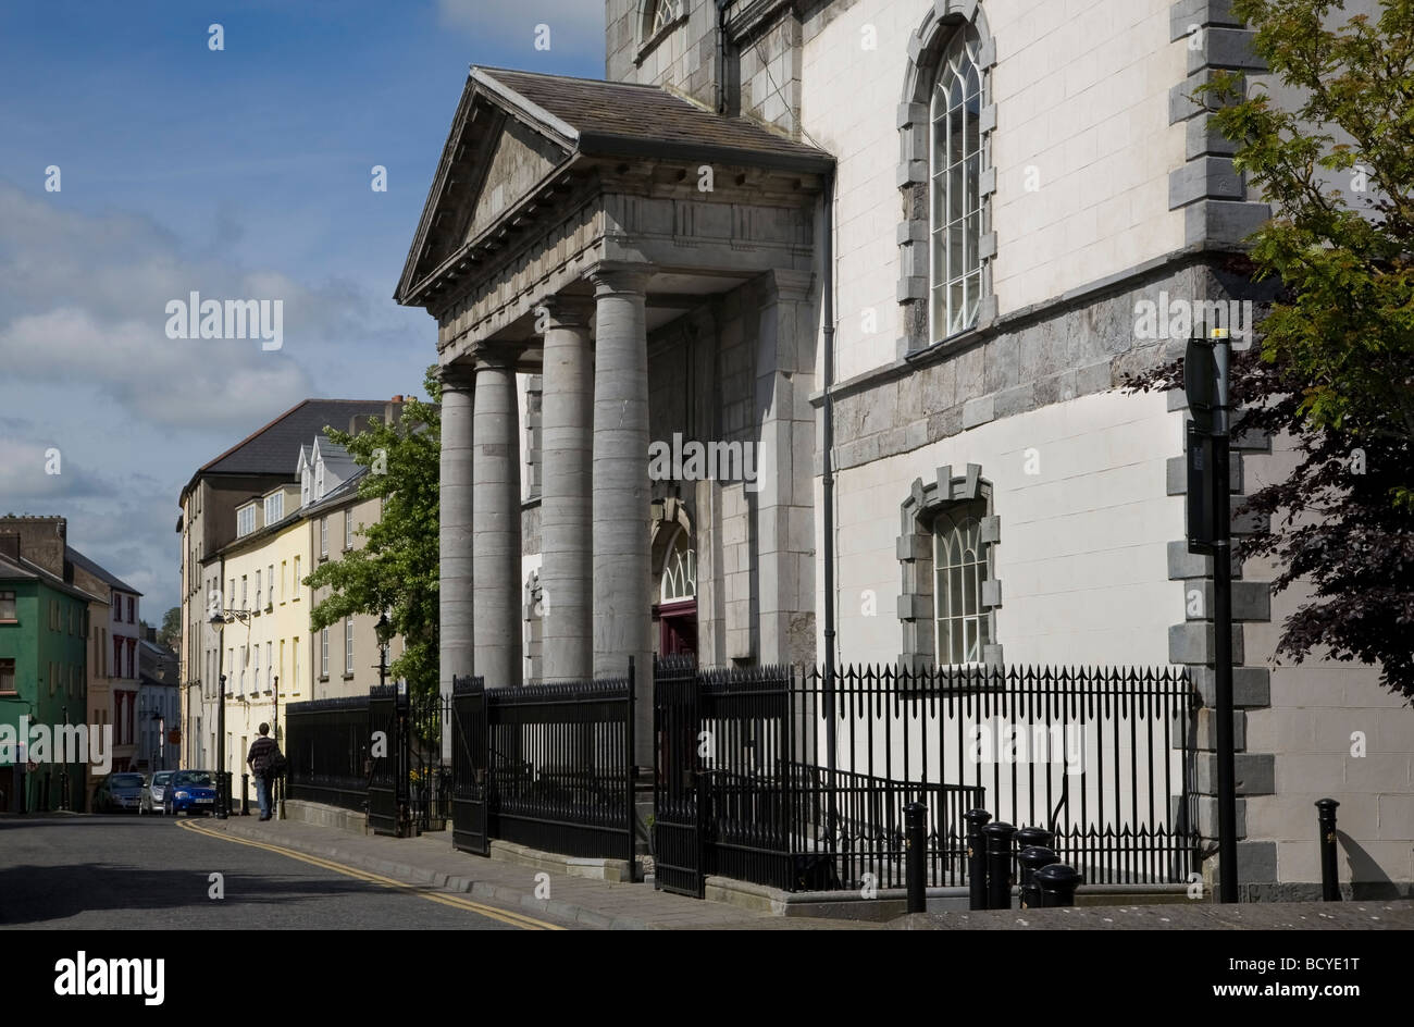
[[[437,692],[437,485],[441,470],[441,419],[437,403],[441,385],[436,366],[427,369],[423,388],[431,403],[409,399],[402,417],[380,419],[356,436],[325,429],[368,474],[359,482],[361,498],[383,501],[379,521],[365,525],[362,549],[321,564],[304,579],[311,588],[331,590],[310,614],[318,631],[351,614],[378,617],[387,611],[392,632],[402,635],[406,651],[390,665],[392,678],[406,678],[414,695]]]

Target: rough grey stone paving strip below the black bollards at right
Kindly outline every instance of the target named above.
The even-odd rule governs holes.
[[[894,931],[1414,931],[1414,901],[1097,905],[916,912]]]

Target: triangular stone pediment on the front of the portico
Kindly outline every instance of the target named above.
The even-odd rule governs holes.
[[[574,129],[472,72],[395,298],[409,293],[564,164]]]

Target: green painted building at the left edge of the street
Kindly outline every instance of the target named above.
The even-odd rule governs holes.
[[[25,560],[0,536],[0,726],[6,741],[28,724],[82,724],[88,709],[88,604],[93,597]],[[3,731],[3,727],[0,727]],[[51,745],[51,750],[54,747]],[[28,770],[17,747],[0,751],[0,811],[85,809],[85,767],[51,751]],[[31,755],[28,751],[25,755]],[[64,777],[68,775],[65,794]]]

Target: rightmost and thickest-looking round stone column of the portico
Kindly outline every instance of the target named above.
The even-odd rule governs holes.
[[[638,673],[638,762],[652,760],[648,323],[642,266],[600,265],[594,359],[594,673]]]

